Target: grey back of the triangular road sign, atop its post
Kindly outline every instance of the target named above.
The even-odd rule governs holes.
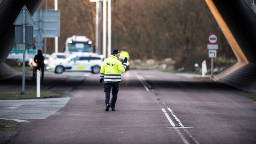
[[[23,25],[23,10],[25,10],[25,24],[26,25],[36,25],[26,6],[22,7],[19,15],[17,16],[17,18],[13,24],[14,25]]]

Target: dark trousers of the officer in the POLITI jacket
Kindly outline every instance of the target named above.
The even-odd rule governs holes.
[[[105,92],[105,104],[106,105],[110,104],[111,108],[115,108],[115,104],[116,104],[116,100],[117,100],[117,93],[118,93],[118,90],[119,90],[119,82],[105,83],[104,87],[105,87],[105,89],[104,89],[104,92]],[[112,98],[111,98],[111,103],[109,103],[111,88],[112,88]]]

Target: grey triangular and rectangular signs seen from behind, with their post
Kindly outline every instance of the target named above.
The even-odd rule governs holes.
[[[25,93],[25,48],[26,44],[33,44],[33,27],[32,31],[28,30],[29,25],[35,25],[32,16],[30,15],[26,6],[23,6],[18,14],[16,20],[13,23],[15,25],[15,44],[23,44],[23,62],[22,62],[22,91],[21,94]],[[21,31],[18,30],[18,27],[22,26],[22,34]],[[31,28],[30,28],[31,29]],[[28,33],[26,33],[26,31]],[[31,34],[32,32],[32,34]],[[20,42],[19,36],[22,35],[22,42]],[[30,38],[32,36],[32,38]]]

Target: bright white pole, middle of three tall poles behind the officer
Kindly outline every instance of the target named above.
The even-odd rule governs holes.
[[[104,0],[103,1],[103,55],[104,55],[104,57],[106,57],[106,34],[107,34],[107,31],[106,31],[106,29],[107,29],[107,19],[106,19],[106,17],[107,17],[107,15],[106,15],[106,13],[107,13],[107,9],[106,9],[106,7],[107,7],[107,5],[106,5],[106,0]]]

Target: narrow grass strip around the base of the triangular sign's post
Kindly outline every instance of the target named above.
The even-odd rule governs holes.
[[[40,98],[59,98],[63,94],[53,93],[53,92],[41,92]],[[25,94],[20,94],[17,92],[13,93],[3,93],[0,94],[0,100],[22,100],[22,99],[36,99],[36,92],[26,92]]]

